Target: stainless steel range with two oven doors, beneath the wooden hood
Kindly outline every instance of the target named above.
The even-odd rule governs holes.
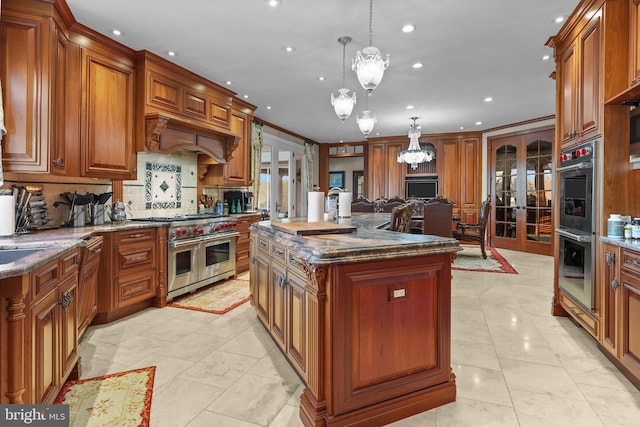
[[[236,274],[236,221],[229,216],[146,218],[169,222],[167,301]]]

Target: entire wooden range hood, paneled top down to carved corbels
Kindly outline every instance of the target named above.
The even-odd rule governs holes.
[[[236,157],[248,126],[244,115],[254,106],[237,106],[234,92],[148,51],[138,52],[136,67],[143,76],[137,83],[138,151],[197,151],[210,164]]]

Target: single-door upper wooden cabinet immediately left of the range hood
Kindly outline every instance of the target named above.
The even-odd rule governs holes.
[[[135,179],[133,64],[83,48],[81,74],[82,175]]]

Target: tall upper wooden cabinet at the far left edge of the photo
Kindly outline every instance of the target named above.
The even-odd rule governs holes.
[[[5,0],[0,16],[0,79],[7,135],[3,166],[64,173],[66,37],[41,2]],[[55,108],[51,108],[55,106]],[[57,159],[57,163],[56,163]]]

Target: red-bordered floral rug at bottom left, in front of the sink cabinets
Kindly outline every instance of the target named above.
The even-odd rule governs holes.
[[[156,367],[67,381],[54,403],[69,405],[70,427],[147,427]]]

